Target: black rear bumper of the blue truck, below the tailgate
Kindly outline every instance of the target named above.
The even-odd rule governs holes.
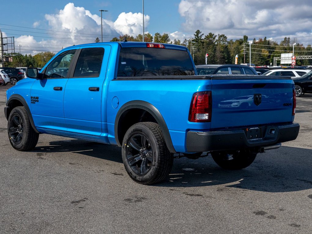
[[[298,123],[262,126],[262,139],[247,140],[244,129],[198,132],[189,131],[186,138],[188,152],[206,152],[242,148],[257,148],[295,140],[299,134]],[[270,132],[275,129],[274,134]]]

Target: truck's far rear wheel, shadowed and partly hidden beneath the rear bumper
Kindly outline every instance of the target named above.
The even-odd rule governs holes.
[[[240,170],[248,167],[256,158],[257,153],[247,149],[211,152],[213,160],[223,169]]]

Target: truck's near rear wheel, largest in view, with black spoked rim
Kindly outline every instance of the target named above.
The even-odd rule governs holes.
[[[129,176],[144,185],[163,181],[173,166],[173,154],[154,122],[136,123],[128,129],[122,145],[122,160]]]

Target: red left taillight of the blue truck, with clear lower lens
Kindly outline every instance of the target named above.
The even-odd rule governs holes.
[[[198,92],[193,95],[188,121],[211,122],[211,91]]]

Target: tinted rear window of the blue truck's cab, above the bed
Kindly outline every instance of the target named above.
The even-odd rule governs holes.
[[[117,76],[195,75],[187,51],[159,48],[121,48]]]

